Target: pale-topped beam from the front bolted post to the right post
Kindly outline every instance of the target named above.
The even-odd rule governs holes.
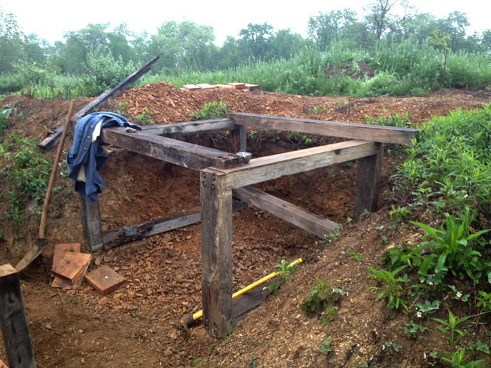
[[[286,154],[253,158],[248,164],[240,168],[217,170],[227,174],[224,178],[226,188],[236,189],[241,186],[266,182],[283,175],[324,168],[335,163],[351,161],[377,153],[378,149],[375,142],[354,140],[287,152]]]

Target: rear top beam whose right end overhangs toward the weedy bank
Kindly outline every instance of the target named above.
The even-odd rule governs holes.
[[[415,139],[419,131],[417,129],[392,126],[340,123],[337,121],[319,121],[245,113],[231,113],[229,114],[229,118],[233,118],[234,123],[237,125],[327,135],[329,137],[363,139],[370,142],[409,145],[412,145],[411,139]]]

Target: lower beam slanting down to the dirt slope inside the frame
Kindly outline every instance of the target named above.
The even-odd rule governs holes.
[[[324,219],[300,207],[292,205],[284,200],[270,196],[263,191],[251,186],[243,186],[232,191],[232,195],[256,207],[274,214],[280,219],[290,222],[304,230],[313,233],[319,238],[325,238],[337,228],[337,224],[328,219]]]

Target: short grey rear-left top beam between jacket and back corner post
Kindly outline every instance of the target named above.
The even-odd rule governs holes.
[[[185,135],[197,135],[211,132],[223,132],[235,128],[232,119],[213,119],[201,121],[184,121],[182,123],[148,125],[142,127],[142,132],[174,138]]]

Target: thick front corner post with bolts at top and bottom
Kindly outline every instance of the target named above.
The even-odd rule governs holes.
[[[200,172],[203,322],[214,337],[228,332],[232,313],[232,193],[224,178]]]

